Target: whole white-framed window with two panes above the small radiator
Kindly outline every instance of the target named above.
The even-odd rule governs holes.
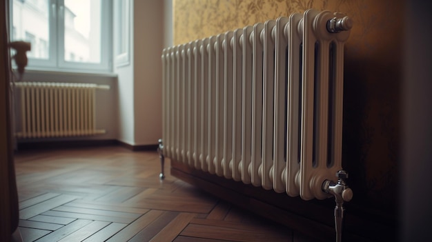
[[[12,41],[28,41],[29,68],[110,71],[107,0],[13,0]]]

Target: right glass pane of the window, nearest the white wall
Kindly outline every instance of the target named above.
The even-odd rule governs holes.
[[[101,0],[64,3],[64,60],[101,63]]]

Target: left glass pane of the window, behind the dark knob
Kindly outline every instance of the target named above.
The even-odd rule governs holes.
[[[32,50],[28,57],[48,59],[49,0],[13,1],[12,40],[28,41]]]

